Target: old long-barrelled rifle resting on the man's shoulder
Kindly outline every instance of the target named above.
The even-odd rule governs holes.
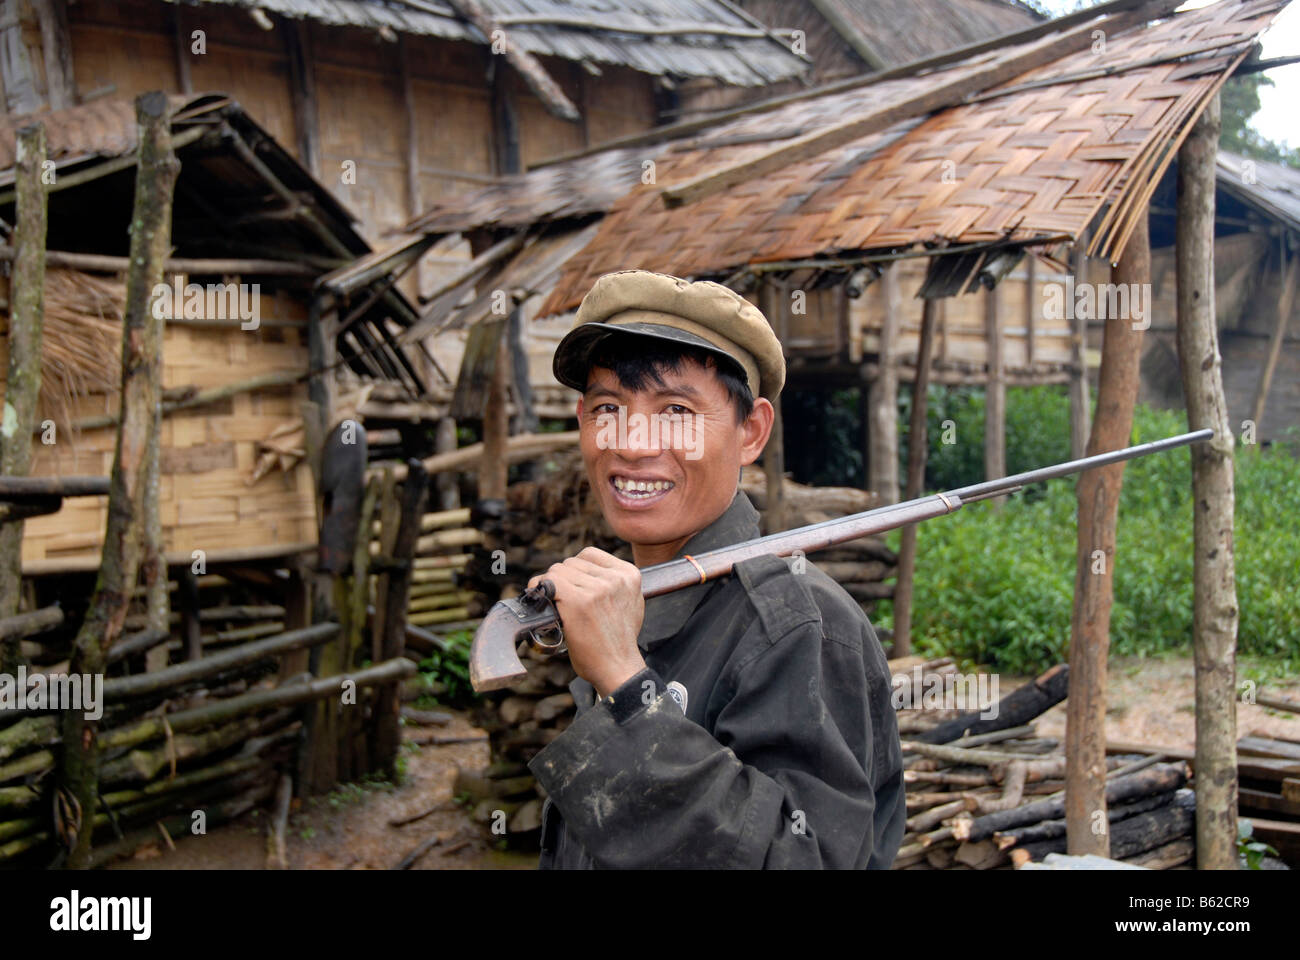
[[[641,596],[658,597],[662,593],[671,593],[684,587],[725,576],[732,571],[732,567],[751,557],[766,554],[789,557],[796,552],[824,550],[849,540],[884,533],[910,523],[928,520],[932,516],[952,514],[966,503],[1015,493],[1026,484],[1080,473],[1086,470],[1147,457],[1187,444],[1199,444],[1213,436],[1214,431],[1210,429],[1180,433],[1166,440],[1057,463],[1041,470],[1030,470],[997,480],[985,480],[945,493],[933,493],[928,497],[910,500],[906,503],[893,503],[781,533],[770,533],[766,537],[734,546],[710,550],[698,557],[682,557],[667,563],[655,563],[641,571]],[[519,597],[502,600],[491,606],[488,615],[484,617],[484,622],[478,624],[473,645],[469,649],[469,683],[474,691],[481,693],[511,687],[526,676],[524,663],[517,654],[521,640],[528,640],[534,649],[542,653],[564,652],[564,630],[555,605],[551,602],[554,597],[554,584],[550,580],[542,580],[537,587],[524,591]]]

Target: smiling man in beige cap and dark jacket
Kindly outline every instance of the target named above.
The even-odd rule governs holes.
[[[636,565],[588,548],[542,575],[578,713],[529,764],[541,866],[888,868],[902,757],[862,607],[775,555],[641,597],[638,567],[759,536],[738,481],[785,380],[767,320],[719,284],[611,273],[554,368],[582,394],[592,490]]]

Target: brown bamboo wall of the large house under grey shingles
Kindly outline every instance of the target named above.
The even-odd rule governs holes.
[[[82,98],[110,90],[133,98],[179,91],[174,16],[186,38],[203,30],[207,53],[187,55],[196,92],[235,98],[281,146],[298,156],[294,94],[282,25],[261,30],[244,10],[157,0],[82,0],[69,8],[73,69]],[[411,216],[407,116],[400,44],[372,30],[302,21],[316,83],[320,180],[360,220],[372,243]],[[472,190],[493,170],[491,91],[486,47],[404,36],[419,152],[421,207]],[[36,53],[36,51],[32,51]],[[547,72],[584,112],[571,124],[552,117],[511,70],[525,165],[654,125],[654,81],[603,66],[593,78],[577,64],[543,57]],[[299,156],[299,160],[302,157]],[[356,182],[342,164],[355,161]],[[468,174],[458,178],[455,173]],[[430,280],[432,284],[432,280]]]

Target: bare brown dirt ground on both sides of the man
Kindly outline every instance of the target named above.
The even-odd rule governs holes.
[[[1028,678],[1002,678],[1002,696]],[[1262,684],[1271,696],[1300,700],[1300,676]],[[1193,669],[1190,657],[1110,661],[1106,738],[1138,740],[1160,747],[1195,745]],[[404,727],[410,740],[437,731],[468,736],[477,731],[464,713],[446,727]],[[1036,722],[1039,736],[1065,738],[1065,704]],[[1300,741],[1300,715],[1268,710],[1253,704],[1238,705],[1238,736],[1258,734]],[[482,827],[451,803],[456,764],[481,769],[488,764],[488,744],[407,748],[407,774],[400,786],[343,786],[329,797],[294,801],[286,835],[291,869],[384,870],[433,835],[446,839],[424,855],[415,870],[510,870],[534,869],[536,853],[494,849]],[[390,821],[437,807],[429,816],[404,826]],[[161,842],[143,848],[131,860],[108,869],[265,869],[266,812],[255,810],[234,823],[213,829],[205,836],[176,840],[176,849]],[[462,842],[467,842],[462,844]],[[459,847],[459,848],[458,848]]]

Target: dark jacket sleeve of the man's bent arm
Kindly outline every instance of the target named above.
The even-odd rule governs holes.
[[[862,647],[816,622],[757,647],[732,673],[714,734],[647,669],[533,758],[598,866],[866,865],[875,797]],[[850,743],[867,745],[867,769]]]

